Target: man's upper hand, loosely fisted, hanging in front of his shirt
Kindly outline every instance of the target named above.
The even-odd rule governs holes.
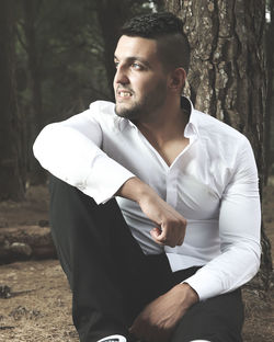
[[[156,224],[150,233],[161,246],[181,246],[184,241],[186,220],[150,186],[137,178],[132,178],[123,184],[117,195],[136,201],[142,213]]]

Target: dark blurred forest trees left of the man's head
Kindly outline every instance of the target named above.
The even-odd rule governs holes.
[[[12,72],[12,78],[7,73],[5,79],[12,82],[9,89],[13,92],[10,109],[7,104],[8,110],[2,113],[12,121],[9,111],[16,103],[18,118],[12,125],[18,127],[12,128],[12,134],[20,137],[16,142],[1,115],[0,164],[7,162],[5,153],[11,156],[8,148],[12,147],[8,145],[19,144],[15,155],[22,159],[20,182],[24,186],[45,183],[46,173],[32,153],[38,132],[49,122],[81,112],[94,100],[113,100],[113,52],[121,23],[160,7],[151,1],[130,0],[2,0],[0,3],[1,25],[7,24],[1,26],[1,42],[7,48],[9,45],[12,55],[1,60],[1,68]],[[2,87],[8,89],[4,83]],[[1,106],[9,98],[2,92]],[[1,186],[0,201],[22,198],[24,186],[13,182],[12,190],[11,182],[7,182],[10,172],[1,170],[1,183],[7,185],[7,192]]]

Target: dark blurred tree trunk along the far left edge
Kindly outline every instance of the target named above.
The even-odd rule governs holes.
[[[14,81],[14,1],[2,0],[0,9],[0,201],[24,197],[20,116]]]

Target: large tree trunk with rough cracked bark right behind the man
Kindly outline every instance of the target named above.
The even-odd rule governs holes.
[[[165,0],[165,7],[183,20],[192,49],[186,94],[196,109],[249,138],[262,187],[265,174],[265,1]],[[258,280],[267,288],[272,259],[263,225],[262,248]]]

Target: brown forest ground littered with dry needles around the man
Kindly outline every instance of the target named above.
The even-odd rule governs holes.
[[[25,202],[0,203],[0,229],[47,220],[47,206],[46,187],[30,187]],[[263,215],[266,233],[274,246],[273,180],[264,190]],[[57,260],[1,265],[0,285],[11,287],[11,297],[0,298],[0,342],[79,341],[71,320],[71,293]],[[273,342],[274,287],[266,294],[246,287],[243,298],[243,341]]]

